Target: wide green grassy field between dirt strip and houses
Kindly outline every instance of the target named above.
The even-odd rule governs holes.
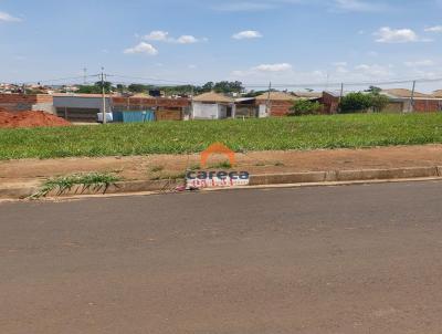
[[[442,143],[442,114],[371,114],[0,129],[0,159]]]

